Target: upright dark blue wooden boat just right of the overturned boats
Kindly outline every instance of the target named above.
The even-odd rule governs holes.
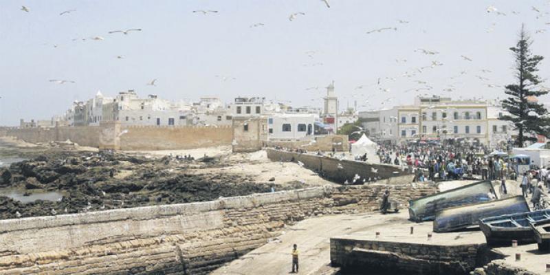
[[[479,220],[479,228],[485,234],[489,245],[510,245],[534,243],[532,223],[550,221],[550,210],[538,210],[519,214],[505,214]]]

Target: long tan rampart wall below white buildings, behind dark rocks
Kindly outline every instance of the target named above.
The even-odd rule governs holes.
[[[230,126],[56,126],[53,128],[4,128],[0,136],[31,143],[71,140],[81,146],[122,150],[169,150],[230,145]]]

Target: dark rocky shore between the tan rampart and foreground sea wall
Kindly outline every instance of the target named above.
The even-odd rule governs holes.
[[[239,173],[212,173],[212,168],[230,169],[217,157],[186,161],[107,151],[39,152],[25,155],[30,160],[0,168],[0,190],[10,188],[23,195],[60,192],[63,198],[21,203],[0,192],[0,219],[210,201],[304,187],[299,182],[280,186]]]

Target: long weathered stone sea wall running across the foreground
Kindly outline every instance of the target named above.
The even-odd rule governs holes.
[[[326,186],[216,201],[0,221],[0,274],[208,274],[318,214],[370,212],[390,188],[407,201],[421,185]]]

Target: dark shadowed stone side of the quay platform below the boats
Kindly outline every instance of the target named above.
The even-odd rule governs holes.
[[[342,270],[380,270],[388,274],[468,274],[485,243],[429,245],[331,238],[331,265]]]

